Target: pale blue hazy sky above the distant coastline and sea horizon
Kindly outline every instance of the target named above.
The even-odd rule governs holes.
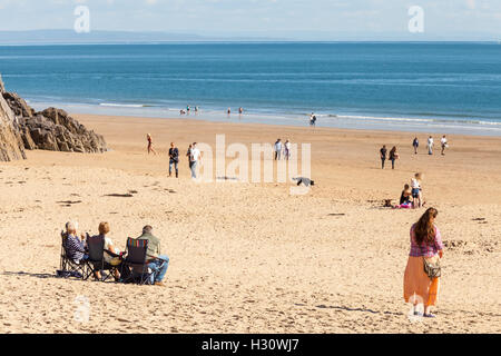
[[[501,0],[0,0],[0,30],[72,29],[78,4],[91,30],[206,36],[364,39],[410,37],[411,6],[423,39],[501,39]]]

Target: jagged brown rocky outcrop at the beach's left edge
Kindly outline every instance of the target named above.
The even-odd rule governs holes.
[[[0,160],[24,158],[24,148],[89,154],[107,150],[101,135],[88,130],[65,110],[36,112],[17,93],[7,92],[1,78],[0,89]]]

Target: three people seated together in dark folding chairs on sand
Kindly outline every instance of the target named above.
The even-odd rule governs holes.
[[[66,224],[66,231],[61,231],[58,276],[164,286],[169,258],[161,255],[160,240],[153,235],[151,226],[145,226],[138,238],[129,237],[125,251],[118,250],[107,236],[108,222],[99,224],[96,236],[81,234],[78,237],[77,228],[77,224],[70,221]]]

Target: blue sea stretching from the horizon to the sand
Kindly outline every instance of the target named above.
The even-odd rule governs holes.
[[[497,43],[18,46],[0,73],[36,108],[501,135]]]

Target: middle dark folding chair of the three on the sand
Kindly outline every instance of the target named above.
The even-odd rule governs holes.
[[[96,271],[108,270],[109,274],[107,276],[102,276],[101,274],[101,279],[99,280],[106,281],[112,276],[115,281],[117,281],[118,279],[115,277],[115,271],[118,270],[118,266],[107,263],[105,260],[105,254],[108,254],[111,257],[120,256],[105,249],[105,237],[101,235],[89,236],[89,234],[87,234],[87,247],[89,249],[89,258],[86,260],[87,270],[84,279],[88,279],[92,275],[96,278]]]

